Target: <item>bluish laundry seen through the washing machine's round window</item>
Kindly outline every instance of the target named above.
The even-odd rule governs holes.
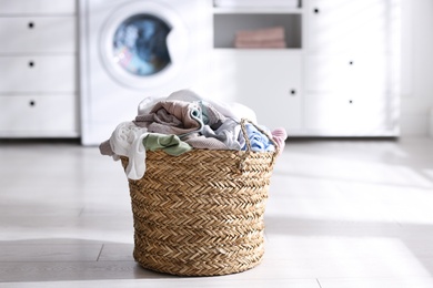
[[[171,64],[167,37],[171,28],[151,14],[124,20],[113,37],[113,60],[129,73],[147,76]]]

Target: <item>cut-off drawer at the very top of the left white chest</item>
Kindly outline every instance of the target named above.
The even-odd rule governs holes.
[[[73,14],[75,0],[0,0],[1,14]]]

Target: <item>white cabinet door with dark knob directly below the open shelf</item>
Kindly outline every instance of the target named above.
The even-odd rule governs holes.
[[[280,52],[280,53],[278,53]],[[254,110],[258,122],[296,130],[302,124],[302,58],[284,51],[215,52],[215,95]]]

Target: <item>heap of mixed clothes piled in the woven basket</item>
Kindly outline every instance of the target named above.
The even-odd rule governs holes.
[[[140,179],[145,173],[145,151],[163,150],[178,156],[193,148],[245,151],[246,143],[240,121],[256,124],[255,113],[239,103],[205,100],[190,90],[181,90],[168,97],[144,99],[133,121],[120,123],[111,137],[99,146],[102,155],[129,158],[127,176]],[[259,125],[258,125],[259,126]],[[253,152],[282,152],[286,132],[270,131],[264,126],[245,125]],[[278,145],[274,146],[272,141]]]

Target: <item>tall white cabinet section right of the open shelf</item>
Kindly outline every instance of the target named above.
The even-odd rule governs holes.
[[[392,45],[399,1],[305,1],[304,130],[397,136]]]

